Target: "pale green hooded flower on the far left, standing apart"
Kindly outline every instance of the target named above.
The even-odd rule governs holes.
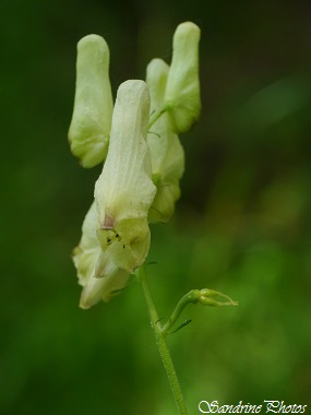
[[[77,44],[76,84],[69,142],[83,167],[101,163],[107,154],[113,102],[109,81],[109,48],[97,35]]]

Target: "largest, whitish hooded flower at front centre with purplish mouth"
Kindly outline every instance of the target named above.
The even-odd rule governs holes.
[[[95,185],[97,237],[107,257],[104,273],[111,262],[133,272],[149,250],[147,213],[156,187],[146,144],[148,115],[145,82],[123,82],[115,104],[107,159]]]

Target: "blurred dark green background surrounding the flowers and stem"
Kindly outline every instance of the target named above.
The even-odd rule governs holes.
[[[203,112],[181,138],[176,215],[152,228],[151,285],[162,317],[191,288],[240,301],[189,306],[168,337],[189,413],[311,404],[310,1],[2,0],[0,16],[1,415],[176,413],[139,284],[77,307],[70,254],[100,168],[79,166],[67,131],[82,36],[108,42],[116,93],[170,61],[187,20]]]

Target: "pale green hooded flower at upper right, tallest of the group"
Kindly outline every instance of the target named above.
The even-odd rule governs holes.
[[[200,28],[194,23],[177,27],[165,93],[165,106],[176,132],[188,131],[200,116],[199,42]]]

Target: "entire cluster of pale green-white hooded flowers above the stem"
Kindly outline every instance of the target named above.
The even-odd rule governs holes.
[[[115,105],[106,42],[89,35],[77,44],[70,146],[83,167],[104,162],[73,251],[82,308],[109,300],[127,285],[148,253],[148,223],[167,222],[174,213],[184,168],[178,134],[201,110],[199,40],[195,24],[180,24],[171,64],[152,60],[146,82],[123,82]]]

